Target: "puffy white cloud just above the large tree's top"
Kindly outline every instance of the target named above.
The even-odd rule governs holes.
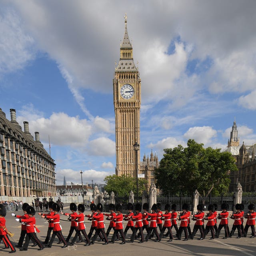
[[[203,143],[204,146],[209,146],[212,138],[217,135],[217,131],[210,126],[194,126],[188,129],[183,135],[186,139],[194,139],[198,143]]]

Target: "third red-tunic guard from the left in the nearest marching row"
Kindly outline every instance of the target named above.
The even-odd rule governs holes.
[[[63,246],[61,246],[61,248],[66,248],[66,247],[68,247],[68,244],[62,235],[62,232],[61,232],[62,227],[60,226],[60,215],[58,214],[58,212],[60,211],[60,206],[58,206],[58,204],[56,204],[56,203],[53,203],[52,210],[54,212],[53,215],[51,215],[51,216],[43,216],[42,215],[41,216],[42,218],[46,218],[48,220],[53,221],[52,238],[46,247],[51,248],[54,238],[55,238],[55,236],[57,236],[59,238],[59,240],[62,241],[62,243],[63,243]]]

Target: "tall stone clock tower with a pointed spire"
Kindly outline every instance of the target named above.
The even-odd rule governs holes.
[[[140,74],[133,61],[132,44],[127,32],[125,15],[124,39],[120,46],[120,61],[113,79],[116,119],[116,175],[136,177],[136,152],[140,144]],[[140,151],[138,151],[140,166]]]

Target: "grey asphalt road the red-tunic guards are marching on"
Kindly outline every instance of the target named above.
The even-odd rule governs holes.
[[[69,205],[64,206],[64,212],[69,211]],[[19,222],[15,221],[15,217],[12,217],[11,214],[15,213],[18,215],[23,215],[23,211],[18,212],[7,212],[6,214],[6,226],[8,230],[14,233],[14,236],[10,238],[12,242],[18,243],[20,238],[20,226]],[[85,214],[90,214],[90,208],[86,208]],[[41,241],[44,241],[47,229],[48,222],[42,219],[37,213],[36,217],[36,226],[40,230],[40,233],[37,233],[38,238]],[[70,229],[70,222],[65,221],[66,216],[61,215],[61,225],[62,225],[62,234],[66,238]],[[91,222],[85,218],[86,222],[86,232],[90,230]],[[126,226],[126,221],[124,221],[124,226]],[[219,222],[218,222],[219,223]],[[106,228],[108,227],[109,221],[105,220]],[[233,220],[230,220],[230,230],[232,228]],[[193,230],[193,221],[190,224],[191,230]],[[105,229],[106,230],[106,229]],[[174,229],[172,229],[174,230]],[[74,234],[74,233],[73,233]],[[108,238],[111,238],[113,232],[110,232]],[[248,231],[250,236],[250,228]],[[130,240],[131,231],[128,230],[126,241]],[[194,240],[174,240],[172,242],[167,242],[169,238],[163,238],[161,242],[154,242],[155,238],[148,240],[142,244],[138,244],[139,240],[134,240],[134,243],[128,243],[121,245],[120,242],[115,242],[114,244],[103,245],[104,242],[98,242],[99,239],[93,245],[84,246],[85,242],[74,244],[74,246],[68,246],[67,248],[61,248],[63,244],[57,244],[58,238],[52,244],[52,248],[45,248],[42,251],[38,251],[38,247],[31,247],[32,244],[28,247],[28,251],[20,252],[17,250],[15,255],[25,256],[27,254],[34,255],[45,255],[49,254],[51,256],[70,256],[75,254],[76,256],[82,255],[104,255],[104,256],[120,256],[124,254],[129,255],[140,255],[140,256],[256,256],[256,238],[240,238],[237,239],[237,232],[235,232],[232,238],[221,239],[224,236],[224,230],[222,229],[220,233],[220,238],[214,240],[209,240],[210,233],[206,239],[198,241],[196,238],[200,237],[200,233],[196,234]],[[184,239],[184,234],[182,234],[182,239]],[[1,255],[6,255],[10,252],[10,249],[4,249],[4,244],[0,244],[0,253]],[[18,248],[17,248],[18,249]]]

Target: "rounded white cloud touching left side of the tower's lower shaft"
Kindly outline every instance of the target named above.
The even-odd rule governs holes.
[[[100,137],[91,140],[86,149],[89,155],[113,156],[116,154],[116,143],[109,138]]]

